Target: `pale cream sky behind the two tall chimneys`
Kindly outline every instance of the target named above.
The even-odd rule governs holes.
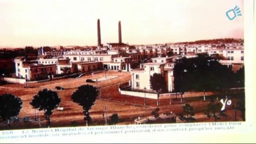
[[[243,16],[226,12],[242,0],[0,0],[0,46],[172,43],[212,38],[243,38]]]

